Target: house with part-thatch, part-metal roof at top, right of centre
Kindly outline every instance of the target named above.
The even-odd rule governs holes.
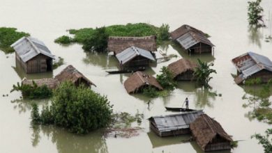
[[[170,36],[190,54],[211,53],[214,47],[205,33],[186,24],[170,33]]]

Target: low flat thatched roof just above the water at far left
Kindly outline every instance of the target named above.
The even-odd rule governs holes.
[[[33,79],[33,80],[28,80],[24,78],[22,80],[22,84],[28,84],[33,86],[33,81],[37,84],[37,86],[43,86],[46,85],[50,89],[54,89],[57,86],[59,86],[59,81],[57,79]]]

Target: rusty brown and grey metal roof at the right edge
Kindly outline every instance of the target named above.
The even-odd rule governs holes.
[[[250,77],[261,70],[272,72],[272,62],[266,56],[248,52],[232,59],[232,63],[241,74],[235,79],[236,83],[241,83],[243,80]]]

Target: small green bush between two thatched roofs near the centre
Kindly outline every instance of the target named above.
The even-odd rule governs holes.
[[[161,74],[157,75],[156,79],[160,85],[167,90],[174,90],[177,86],[176,81],[174,81],[173,73],[165,66],[160,70]]]

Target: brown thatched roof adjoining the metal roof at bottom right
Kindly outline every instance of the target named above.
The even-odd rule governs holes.
[[[190,124],[190,130],[202,150],[205,150],[206,145],[211,143],[216,136],[220,136],[226,141],[232,141],[232,138],[224,131],[221,125],[206,114],[199,115]]]

